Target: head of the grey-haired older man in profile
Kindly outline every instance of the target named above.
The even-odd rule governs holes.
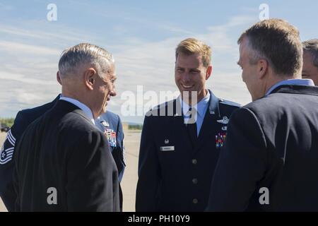
[[[107,101],[116,95],[114,58],[94,44],[81,43],[64,50],[59,59],[62,95],[83,102],[94,118],[106,112]]]

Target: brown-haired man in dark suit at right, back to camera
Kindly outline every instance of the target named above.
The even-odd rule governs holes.
[[[253,102],[232,114],[207,210],[317,211],[318,87],[301,79],[299,32],[263,20],[238,43]]]

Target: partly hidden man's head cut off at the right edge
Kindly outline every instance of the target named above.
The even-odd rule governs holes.
[[[302,42],[304,50],[302,78],[310,78],[318,85],[318,39]]]

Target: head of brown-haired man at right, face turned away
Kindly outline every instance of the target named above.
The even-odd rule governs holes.
[[[262,20],[240,36],[242,79],[252,100],[263,97],[273,81],[300,78],[302,43],[298,29],[280,19]]]

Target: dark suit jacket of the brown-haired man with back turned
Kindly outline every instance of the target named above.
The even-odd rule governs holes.
[[[207,210],[317,211],[317,162],[318,87],[282,85],[232,114]]]

